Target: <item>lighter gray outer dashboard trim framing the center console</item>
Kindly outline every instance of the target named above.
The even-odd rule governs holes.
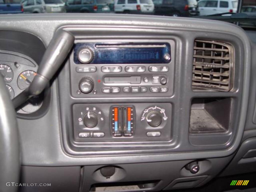
[[[216,31],[237,36],[244,42],[244,74],[241,116],[236,140],[227,150],[204,151],[193,153],[168,153],[118,156],[70,156],[63,151],[61,141],[60,114],[58,111],[58,88],[56,81],[53,83],[52,104],[48,113],[38,120],[18,119],[23,152],[23,165],[95,165],[138,163],[155,161],[174,161],[181,159],[198,159],[223,157],[234,153],[241,141],[246,121],[251,68],[251,47],[246,33],[238,26],[229,23],[202,20],[194,18],[168,18],[158,16],[134,15],[104,15],[104,14],[37,14],[37,15],[1,15],[0,29],[20,30],[33,33],[48,45],[54,32],[61,26],[72,25],[77,27],[111,27],[113,29],[137,29],[138,31],[162,30],[191,30],[191,31]],[[93,36],[93,34],[89,34]],[[52,127],[49,124],[54,124]],[[29,125],[29,126],[28,126]],[[31,131],[33,130],[33,131]],[[31,153],[33,151],[34,153]],[[54,162],[54,163],[52,163]]]

